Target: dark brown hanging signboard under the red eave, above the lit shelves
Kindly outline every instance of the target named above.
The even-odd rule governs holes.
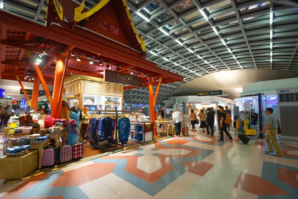
[[[119,73],[107,69],[104,70],[103,80],[105,82],[128,85],[133,87],[141,87],[142,85],[142,78],[140,77]]]

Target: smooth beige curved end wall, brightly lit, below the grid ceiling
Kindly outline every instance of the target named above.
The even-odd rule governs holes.
[[[261,81],[297,78],[298,72],[278,70],[221,71],[197,78],[175,89],[170,96],[196,96],[199,91],[223,90],[224,98],[235,99],[242,86]],[[298,84],[298,83],[297,83]]]

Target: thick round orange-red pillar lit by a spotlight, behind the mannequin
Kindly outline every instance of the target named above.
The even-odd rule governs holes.
[[[57,57],[55,79],[54,79],[53,105],[52,105],[53,118],[61,118],[61,114],[62,114],[62,97],[60,96],[61,95],[60,90],[64,81],[63,80],[63,77],[64,77],[63,73],[65,71],[64,69],[65,69],[65,57],[62,57],[62,54],[59,54]]]

